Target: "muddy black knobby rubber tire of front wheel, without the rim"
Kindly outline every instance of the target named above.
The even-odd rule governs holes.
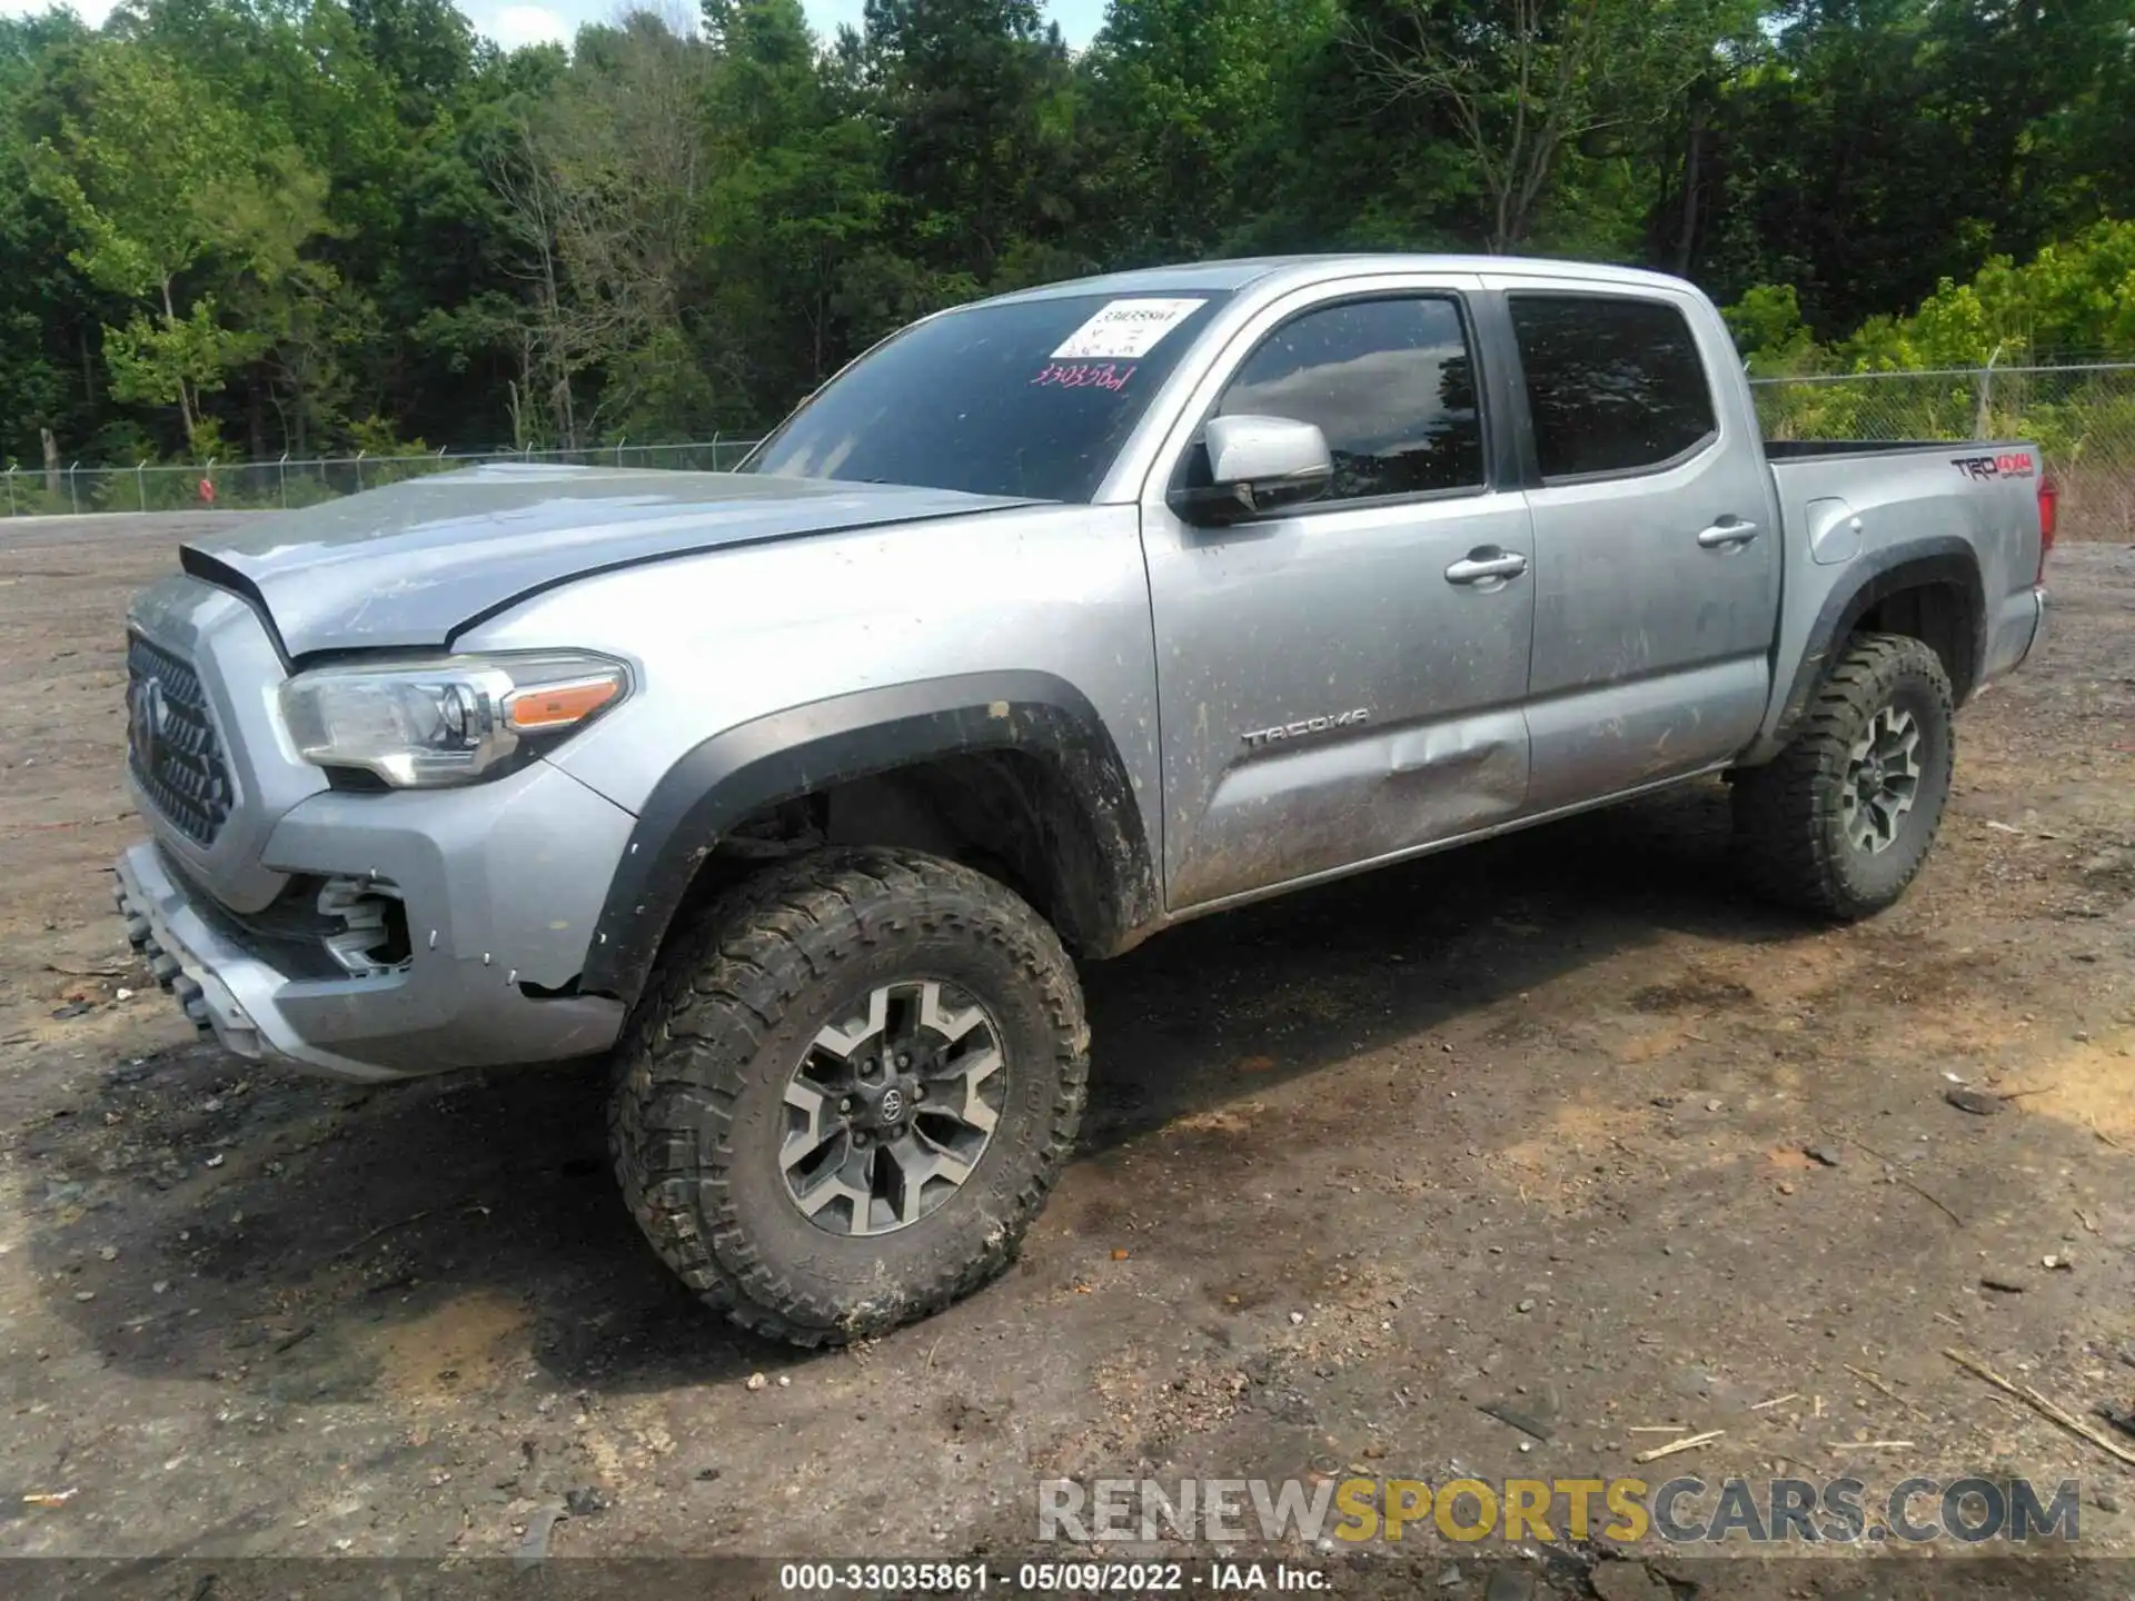
[[[781,1097],[854,995],[937,978],[999,1020],[1006,1101],[971,1176],[888,1234],[811,1223],[777,1163]],[[1074,1148],[1082,990],[1021,897],[910,850],[824,850],[717,897],[662,954],[615,1057],[608,1151],[653,1251],[732,1321],[843,1345],[927,1317],[1016,1255]]]

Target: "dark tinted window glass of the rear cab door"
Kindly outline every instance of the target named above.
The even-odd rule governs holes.
[[[1640,472],[1719,431],[1691,324],[1663,301],[1514,295],[1544,478]]]

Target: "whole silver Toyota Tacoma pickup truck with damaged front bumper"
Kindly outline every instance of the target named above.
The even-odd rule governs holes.
[[[995,1274],[1072,958],[1723,775],[1896,901],[2033,649],[1992,444],[1759,442],[1710,301],[1225,260],[931,316],[734,474],[478,467],[207,536],[130,615],[128,935],[241,1057],[608,1052],[653,1249],[803,1345]]]

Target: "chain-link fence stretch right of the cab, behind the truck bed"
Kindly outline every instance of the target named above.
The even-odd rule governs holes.
[[[2060,538],[2135,540],[2135,363],[1757,378],[1768,440],[2030,440]]]

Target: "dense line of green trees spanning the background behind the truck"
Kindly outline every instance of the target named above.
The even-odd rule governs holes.
[[[1680,271],[1770,374],[2135,350],[2135,0],[698,2],[0,19],[0,450],[741,431],[939,305],[1341,248]]]

